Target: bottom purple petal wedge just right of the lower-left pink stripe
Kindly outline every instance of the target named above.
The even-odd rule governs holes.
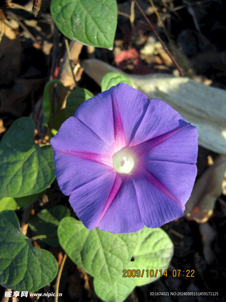
[[[111,203],[98,228],[111,233],[133,233],[144,227],[132,177],[129,175]]]

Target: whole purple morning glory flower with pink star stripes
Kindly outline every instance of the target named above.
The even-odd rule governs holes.
[[[198,132],[127,84],[85,101],[51,140],[61,191],[87,229],[156,228],[184,214]]]

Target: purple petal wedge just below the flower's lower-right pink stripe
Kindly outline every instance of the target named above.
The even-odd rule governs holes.
[[[183,216],[181,205],[148,180],[133,176],[140,214],[147,227],[157,228]]]

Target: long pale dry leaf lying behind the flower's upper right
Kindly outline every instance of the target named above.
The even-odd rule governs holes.
[[[97,59],[85,60],[81,66],[99,85],[107,72],[123,73]],[[226,154],[225,90],[206,86],[186,77],[161,73],[126,75],[133,87],[142,91],[149,99],[159,98],[165,101],[186,121],[196,126],[199,145],[216,153]]]

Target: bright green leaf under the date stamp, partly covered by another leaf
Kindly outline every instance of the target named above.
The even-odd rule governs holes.
[[[124,277],[123,271],[121,271],[121,274],[113,282],[94,278],[95,292],[105,302],[124,301],[135,286],[155,281],[160,277],[159,270],[162,269],[163,275],[165,269],[168,268],[173,253],[173,243],[168,235],[161,228],[149,229],[145,226],[137,232],[137,236],[137,247],[133,252],[134,261],[130,261],[124,266],[126,271]],[[150,270],[154,271],[152,272],[154,275],[158,270],[157,277],[147,278],[146,270],[148,270],[149,275]],[[137,277],[139,274],[140,277]]]

